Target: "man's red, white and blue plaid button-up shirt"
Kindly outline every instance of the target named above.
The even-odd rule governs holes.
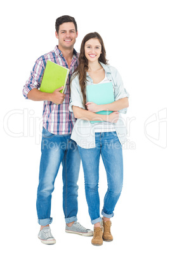
[[[69,68],[62,52],[55,46],[52,52],[46,53],[36,60],[30,77],[23,87],[23,96],[28,99],[27,94],[32,89],[39,89],[46,68],[47,60],[51,60],[60,66]],[[70,101],[70,77],[78,65],[78,53],[74,50],[74,55],[70,65],[70,73],[65,86],[65,100],[63,104],[54,104],[51,101],[44,101],[43,106],[43,127],[53,134],[70,134],[75,124],[74,114],[69,111]]]

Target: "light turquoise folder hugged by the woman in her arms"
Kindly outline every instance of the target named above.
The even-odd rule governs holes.
[[[109,83],[98,83],[96,85],[88,85],[86,87],[87,99],[89,102],[101,104],[109,104],[115,101],[114,99],[114,88],[112,82]],[[97,114],[109,115],[113,111],[98,111]],[[90,121],[91,123],[102,122],[102,121]]]

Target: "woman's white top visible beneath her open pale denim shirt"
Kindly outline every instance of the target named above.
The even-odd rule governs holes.
[[[109,83],[110,80],[108,80],[107,75],[105,73],[105,78],[100,83]],[[94,83],[94,85],[99,85],[100,83]],[[95,127],[95,132],[115,132],[114,124],[111,124],[110,122],[97,122],[94,124],[91,124],[93,127]]]

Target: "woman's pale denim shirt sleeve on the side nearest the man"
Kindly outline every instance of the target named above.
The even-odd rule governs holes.
[[[75,78],[72,80],[70,83],[70,105],[69,105],[69,110],[70,112],[72,111],[72,106],[78,106],[79,108],[83,108],[83,99],[82,99],[82,92],[81,92],[81,87],[79,85],[79,78],[78,76],[75,76]]]

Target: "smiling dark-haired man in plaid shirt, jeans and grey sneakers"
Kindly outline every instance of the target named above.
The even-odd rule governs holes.
[[[58,46],[52,52],[39,57],[23,88],[23,96],[33,101],[44,101],[43,130],[41,144],[41,162],[39,186],[37,189],[37,216],[41,225],[38,238],[42,243],[56,243],[49,224],[51,218],[51,194],[55,178],[62,162],[63,166],[63,211],[65,231],[83,236],[93,236],[93,231],[85,229],[77,222],[77,180],[79,177],[80,156],[75,141],[70,139],[75,118],[69,112],[70,76],[77,68],[78,54],[74,50],[78,36],[75,19],[62,16],[56,19],[56,38]],[[53,93],[39,90],[47,60],[70,69],[64,94],[56,89]]]

